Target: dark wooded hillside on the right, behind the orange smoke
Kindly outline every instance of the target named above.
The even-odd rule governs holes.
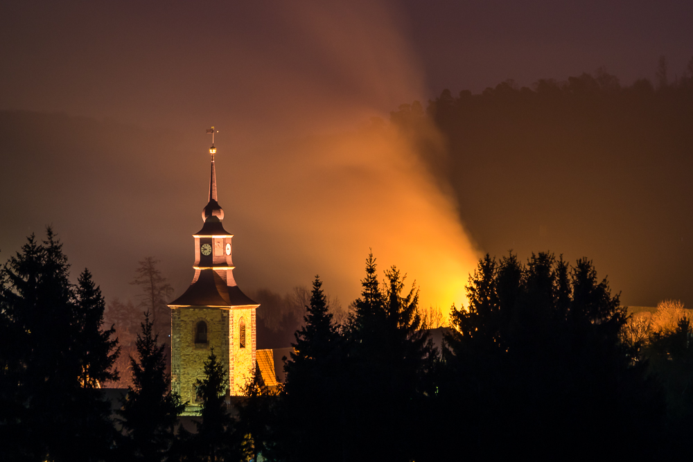
[[[480,94],[445,90],[391,118],[450,186],[480,247],[529,255],[560,246],[579,256],[584,244],[611,263],[629,296],[653,303],[654,287],[688,286],[681,238],[693,197],[693,62],[657,69],[654,81],[629,85],[601,69],[530,87],[508,80]],[[611,242],[614,229],[628,232]],[[635,272],[642,263],[677,269]]]

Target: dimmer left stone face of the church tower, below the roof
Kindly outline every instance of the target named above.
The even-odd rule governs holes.
[[[195,327],[207,322],[207,344],[195,344]],[[195,405],[194,385],[204,377],[211,348],[222,364],[229,364],[229,310],[175,308],[171,313],[171,382],[183,402]]]

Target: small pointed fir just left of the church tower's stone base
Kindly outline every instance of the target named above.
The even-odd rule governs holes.
[[[130,357],[133,387],[119,411],[125,438],[121,452],[129,460],[160,461],[173,441],[177,416],[183,410],[179,396],[169,389],[164,345],[152,332],[149,312],[137,335],[137,360]]]

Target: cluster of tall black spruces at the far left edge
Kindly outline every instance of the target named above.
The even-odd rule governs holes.
[[[104,459],[114,440],[99,384],[113,380],[113,330],[87,270],[69,281],[49,228],[0,270],[0,432],[8,460]]]

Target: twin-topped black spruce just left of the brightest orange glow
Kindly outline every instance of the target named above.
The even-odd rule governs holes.
[[[419,291],[406,292],[396,267],[385,272],[381,288],[376,260],[369,254],[362,293],[353,305],[348,330],[349,375],[344,388],[347,460],[402,460],[418,454],[423,393],[434,355],[426,331],[419,330]]]

